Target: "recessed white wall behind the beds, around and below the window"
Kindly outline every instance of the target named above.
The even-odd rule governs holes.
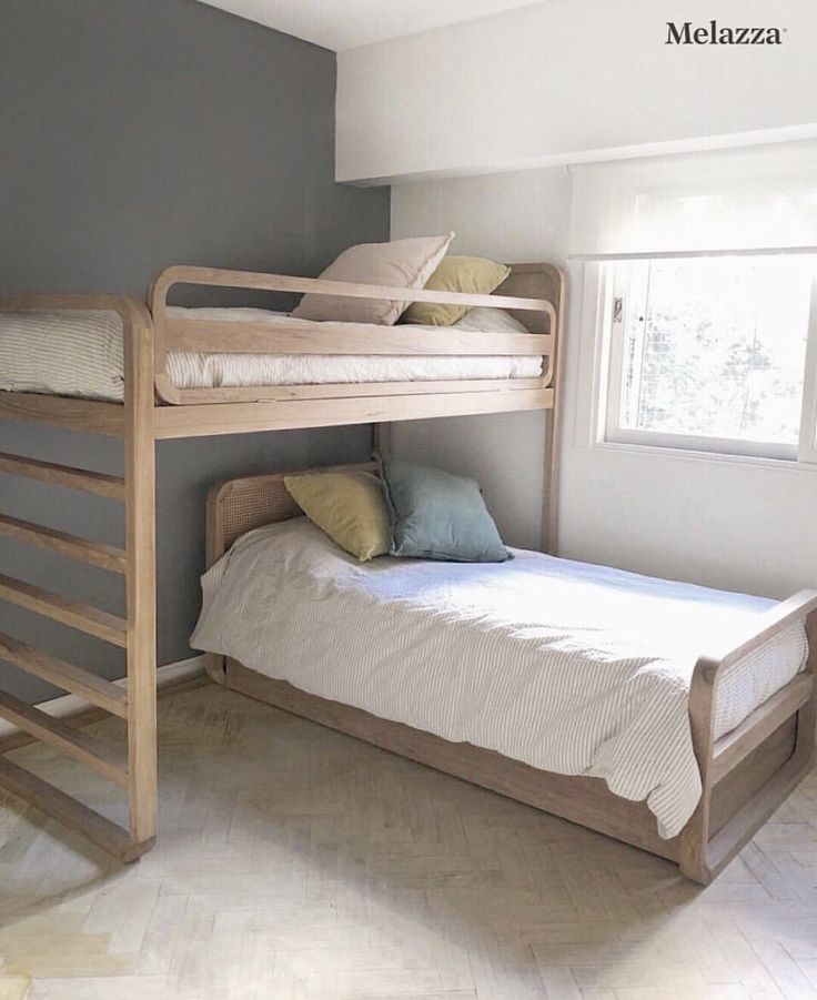
[[[457,232],[455,249],[564,262],[563,169],[395,186],[394,236]],[[817,586],[817,471],[592,446],[593,334],[568,269],[559,553],[643,573],[783,597]],[[541,414],[399,424],[393,447],[480,479],[511,544],[536,547]]]

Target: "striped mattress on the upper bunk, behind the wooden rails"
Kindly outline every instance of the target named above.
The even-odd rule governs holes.
[[[175,316],[269,322],[293,327],[315,325],[286,313],[260,309],[171,307],[169,312]],[[383,330],[379,326],[372,329]],[[440,333],[436,326],[405,329]],[[535,356],[404,357],[192,352],[172,352],[168,355],[168,374],[178,388],[524,378],[541,373],[542,358]],[[121,402],[123,387],[122,325],[117,313],[80,310],[0,313],[0,390]]]

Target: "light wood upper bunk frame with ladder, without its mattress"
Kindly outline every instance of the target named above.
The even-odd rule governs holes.
[[[315,323],[309,329],[241,321],[179,319],[168,313],[168,294],[179,284],[266,292],[441,302],[511,310],[528,333],[471,333],[412,326]],[[0,660],[19,667],[125,720],[128,752],[53,719],[10,695],[0,694],[0,718],[43,740],[121,785],[128,795],[124,829],[47,784],[2,755],[0,785],[84,834],[110,853],[131,861],[149,850],[157,830],[155,731],[155,442],[341,424],[379,425],[522,410],[549,412],[546,488],[556,475],[557,395],[564,280],[552,264],[512,264],[493,295],[387,289],[279,274],[204,267],[170,267],[148,292],[148,306],[119,295],[0,296],[0,311],[112,310],[124,335],[124,404],[0,392],[0,420],[112,435],[124,442],[124,476],[110,476],[0,454],[0,473],[101,495],[124,504],[125,546],[117,548],[0,513],[0,537],[38,546],[109,573],[124,575],[122,617],[0,574],[0,600],[46,616],[123,648],[127,688],[67,660],[0,634]],[[180,391],[167,371],[168,352],[275,354],[507,354],[542,355],[536,378],[422,383],[302,385],[266,388]],[[555,495],[546,505],[543,545],[553,545]],[[13,745],[19,745],[14,740]]]

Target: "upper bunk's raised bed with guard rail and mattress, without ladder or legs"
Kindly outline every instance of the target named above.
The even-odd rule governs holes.
[[[111,295],[2,297],[0,311],[20,322],[0,340],[0,415],[127,434],[129,394],[145,383],[154,440],[553,410],[563,275],[546,263],[510,267],[491,295],[172,266],[147,307]],[[482,312],[485,329],[384,326],[182,309],[169,304],[180,285],[433,302],[496,310],[501,322],[492,329]]]

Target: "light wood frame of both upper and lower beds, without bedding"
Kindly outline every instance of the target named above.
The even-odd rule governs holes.
[[[180,313],[168,303],[179,284],[288,293],[487,306],[508,310],[527,332],[417,330],[410,326],[350,329],[330,323],[293,327],[271,319]],[[115,617],[9,576],[0,576],[0,599],[70,628],[112,643],[127,653],[127,688],[43,654],[11,636],[0,636],[0,659],[85,698],[123,718],[124,758],[87,734],[51,719],[8,695],[0,717],[75,759],[94,767],[128,792],[128,828],[0,756],[0,785],[81,831],[122,860],[150,849],[155,838],[155,528],[154,446],[157,441],[193,436],[373,424],[524,410],[546,411],[546,503],[543,549],[556,539],[556,482],[563,279],[548,264],[513,265],[490,296],[290,277],[200,267],[171,267],[148,295],[148,306],[110,295],[27,295],[0,299],[0,311],[112,311],[122,326],[124,391],[121,402],[26,392],[0,392],[0,418],[113,435],[124,442],[123,477],[0,455],[0,473],[102,494],[124,504],[127,541],[112,550],[41,525],[0,515],[0,535],[124,575],[127,607]],[[315,354],[319,357],[393,355],[522,356],[542,358],[535,377],[357,382],[262,386],[178,386],[171,375],[179,352],[242,355]],[[248,531],[297,514],[281,474],[233,479],[213,489],[208,519],[208,560],[219,559]],[[805,629],[805,668],[732,731],[716,738],[718,686],[732,666],[787,629]],[[779,807],[811,766],[817,693],[817,593],[803,592],[757,617],[752,630],[706,651],[695,664],[689,721],[703,792],[697,808],[674,838],[660,838],[643,802],[627,801],[598,778],[541,770],[470,744],[448,743],[430,733],[389,721],[347,705],[327,701],[266,678],[234,660],[211,657],[209,670],[221,684],[350,733],[412,759],[652,851],[679,865],[690,879],[714,878]]]

